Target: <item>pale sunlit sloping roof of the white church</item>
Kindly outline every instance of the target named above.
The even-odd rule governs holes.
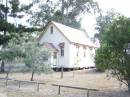
[[[54,21],[51,23],[53,23],[70,42],[96,47],[86,36],[85,32]]]

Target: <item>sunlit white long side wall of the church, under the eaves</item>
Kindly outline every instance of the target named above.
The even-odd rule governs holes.
[[[78,53],[78,55],[77,55]],[[70,45],[70,67],[94,67],[95,49],[83,45]]]

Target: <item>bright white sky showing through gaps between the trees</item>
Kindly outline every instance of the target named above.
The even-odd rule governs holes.
[[[23,4],[28,4],[32,0],[20,0],[20,1]],[[130,0],[94,0],[94,1],[97,1],[99,7],[102,8],[102,10],[104,11],[113,8],[116,12],[119,12],[127,17],[130,17]],[[96,33],[94,29],[96,24],[96,16],[91,14],[83,14],[82,18],[83,18],[81,22],[82,28],[86,30],[86,32],[90,37],[93,37],[94,33]],[[24,20],[22,22],[23,24],[26,23],[26,21]]]

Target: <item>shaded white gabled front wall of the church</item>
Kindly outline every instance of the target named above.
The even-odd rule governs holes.
[[[53,34],[51,34],[51,27],[53,26]],[[40,39],[40,44],[44,42],[52,43],[58,50],[57,54],[57,66],[56,67],[67,67],[69,65],[69,53],[70,53],[70,43],[69,41],[59,32],[55,25],[50,24]],[[59,44],[64,42],[64,56],[60,56],[60,47]],[[52,57],[51,57],[52,60]],[[50,62],[51,63],[51,62]]]

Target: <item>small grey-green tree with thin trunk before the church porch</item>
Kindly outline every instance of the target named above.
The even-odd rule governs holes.
[[[27,42],[23,48],[25,53],[24,63],[32,72],[31,81],[35,73],[48,73],[51,71],[50,64],[45,64],[50,57],[51,51],[43,48],[37,42]]]

